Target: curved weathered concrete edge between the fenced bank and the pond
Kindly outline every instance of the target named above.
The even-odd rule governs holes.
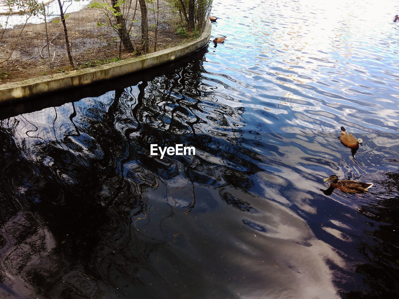
[[[208,20],[201,37],[194,41],[190,41],[189,43],[184,43],[176,47],[156,51],[139,57],[107,63],[97,67],[54,74],[52,78],[50,75],[46,75],[0,85],[0,103],[12,102],[14,100],[21,100],[23,98],[29,98],[57,90],[69,89],[98,81],[113,79],[168,63],[204,47],[209,41],[211,30],[212,25]]]

